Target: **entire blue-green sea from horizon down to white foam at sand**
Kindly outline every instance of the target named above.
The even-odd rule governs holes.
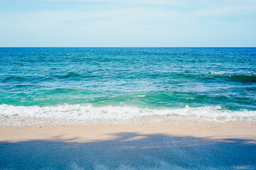
[[[256,48],[0,48],[3,125],[256,120],[255,103]]]

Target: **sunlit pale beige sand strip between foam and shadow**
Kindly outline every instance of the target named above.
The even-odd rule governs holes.
[[[43,135],[42,135],[43,132]],[[217,122],[208,120],[165,120],[144,123],[89,124],[89,125],[0,125],[0,142],[21,142],[26,140],[56,140],[77,138],[76,142],[86,140],[112,139],[110,134],[119,132],[139,132],[141,134],[163,134],[191,137],[210,137],[224,139],[240,137],[256,140],[256,121]],[[79,139],[79,140],[78,140]]]

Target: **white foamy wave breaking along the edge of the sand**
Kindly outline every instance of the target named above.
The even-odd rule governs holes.
[[[256,111],[228,111],[220,106],[198,108],[149,109],[132,106],[92,106],[90,104],[61,106],[0,105],[0,125],[48,125],[90,123],[131,123],[140,120],[256,120]]]

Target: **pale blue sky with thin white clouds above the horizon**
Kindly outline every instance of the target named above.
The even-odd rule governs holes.
[[[0,0],[0,47],[256,47],[256,1]]]

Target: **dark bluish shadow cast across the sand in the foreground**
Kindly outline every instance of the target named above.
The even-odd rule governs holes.
[[[255,140],[114,135],[90,142],[0,142],[0,169],[256,169]]]

